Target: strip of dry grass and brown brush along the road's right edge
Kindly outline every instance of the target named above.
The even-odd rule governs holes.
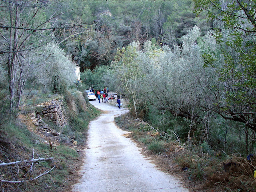
[[[216,155],[217,153],[215,156],[204,154],[200,148],[179,150],[178,147],[177,150],[176,142],[165,142],[165,150],[161,153],[156,150],[154,153],[154,150],[148,150],[148,146],[152,142],[161,141],[159,136],[149,136],[141,124],[128,115],[116,118],[116,123],[124,130],[133,131],[130,137],[144,149],[142,153],[151,157],[158,169],[168,174],[175,174],[183,180],[184,186],[191,192],[256,191],[256,179],[253,177],[256,170],[256,156],[252,157],[251,161],[244,156],[223,159]],[[224,168],[223,162],[231,163]]]

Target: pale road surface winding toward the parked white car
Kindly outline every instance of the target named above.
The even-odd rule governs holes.
[[[124,136],[128,132],[115,126],[114,116],[126,109],[90,102],[106,113],[90,122],[84,166],[73,192],[188,192],[178,179],[157,170]]]

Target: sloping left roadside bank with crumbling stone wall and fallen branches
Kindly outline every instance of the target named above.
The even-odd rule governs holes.
[[[0,164],[0,190],[55,192],[69,188],[80,167],[88,122],[98,114],[77,90],[25,106],[17,119],[8,120],[0,129],[0,161],[30,161]]]

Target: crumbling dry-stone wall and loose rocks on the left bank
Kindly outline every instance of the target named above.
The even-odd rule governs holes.
[[[76,96],[79,96],[79,100],[82,101],[80,107],[86,110],[87,106],[82,93],[78,92]],[[42,138],[38,142],[51,143],[54,146],[59,145],[60,141],[64,139],[66,144],[76,146],[78,144],[76,137],[66,136],[62,133],[63,128],[68,125],[67,108],[69,112],[78,114],[78,108],[74,100],[70,100],[66,104],[63,97],[59,96],[49,102],[37,104],[34,112],[19,117],[26,124],[28,130]]]

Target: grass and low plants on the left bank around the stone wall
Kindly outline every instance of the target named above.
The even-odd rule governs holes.
[[[26,93],[28,94],[28,92],[29,90],[25,89],[23,98],[27,97]],[[44,93],[42,90],[34,89],[28,95],[18,118],[12,118],[8,115],[2,118],[0,131],[1,163],[38,158],[52,159],[1,166],[1,180],[6,181],[1,182],[1,191],[55,192],[56,190],[70,189],[71,184],[77,178],[77,171],[81,165],[80,149],[86,142],[88,123],[100,114],[100,111],[90,105],[86,100],[87,98],[81,98],[81,95],[75,88],[68,88],[63,95]],[[41,133],[42,130],[31,131],[31,128],[28,130],[28,126],[31,126],[29,123],[32,122],[29,114],[38,110],[36,105],[56,98],[64,98],[64,111],[68,117],[68,124],[61,127],[45,118],[42,120],[52,130],[60,132],[60,137],[56,140],[51,134],[38,135],[38,132]],[[70,107],[71,103],[75,104],[77,114],[73,111],[74,107]],[[7,106],[2,105],[1,109],[6,110],[6,108]],[[77,145],[72,144],[74,140],[76,140]],[[46,172],[47,174],[44,174]],[[37,178],[38,176],[40,177]]]

